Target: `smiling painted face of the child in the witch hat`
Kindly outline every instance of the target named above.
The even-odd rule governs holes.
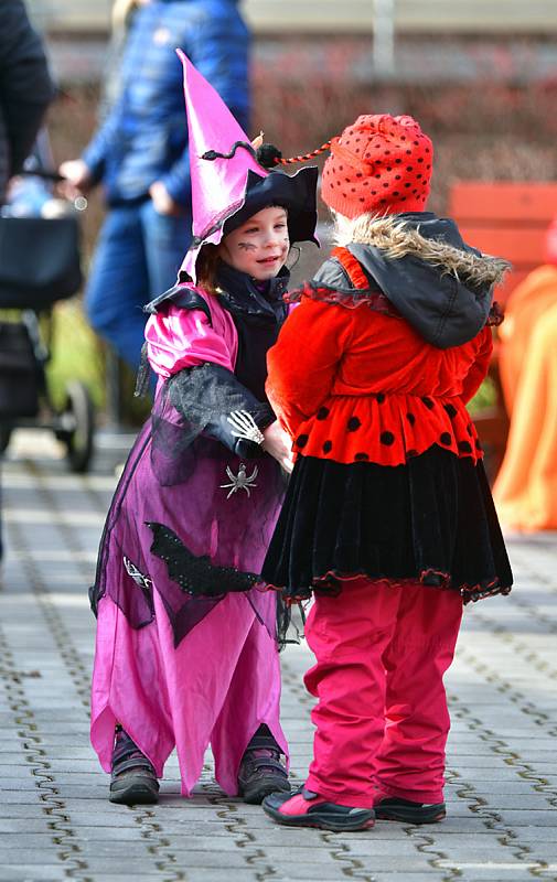
[[[287,213],[285,208],[271,205],[228,233],[218,255],[234,269],[263,282],[278,273],[289,247]]]

